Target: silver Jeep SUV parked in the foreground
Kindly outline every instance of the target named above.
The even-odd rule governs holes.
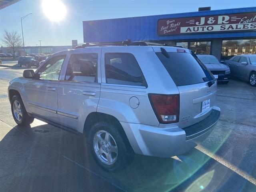
[[[216,91],[190,50],[134,43],[58,52],[12,80],[8,96],[18,125],[37,118],[84,134],[116,171],[134,153],[169,158],[202,142],[220,117]]]

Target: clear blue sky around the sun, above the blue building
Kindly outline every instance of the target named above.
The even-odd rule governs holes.
[[[22,20],[25,46],[71,45],[72,39],[83,42],[82,21],[158,14],[194,12],[198,7],[212,10],[256,6],[256,0],[62,0],[66,16],[59,22],[46,17],[41,0],[21,0],[0,10],[0,37],[4,29],[21,34]],[[59,6],[57,11],[62,12]],[[61,19],[61,18],[60,18]],[[0,46],[2,42],[0,41]]]

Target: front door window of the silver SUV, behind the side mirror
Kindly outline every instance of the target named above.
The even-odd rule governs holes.
[[[42,68],[40,68],[38,71],[38,74],[40,74],[40,79],[58,80],[65,57],[66,55],[55,56],[44,63]]]

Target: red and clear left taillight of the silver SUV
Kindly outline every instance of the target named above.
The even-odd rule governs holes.
[[[179,122],[180,95],[148,94],[152,108],[162,124]]]

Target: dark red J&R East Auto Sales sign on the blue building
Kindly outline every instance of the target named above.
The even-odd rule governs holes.
[[[256,12],[158,20],[158,35],[256,31]]]

